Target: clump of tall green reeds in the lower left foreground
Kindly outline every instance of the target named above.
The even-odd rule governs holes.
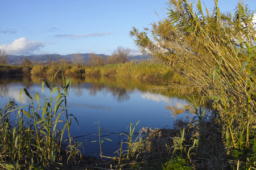
[[[63,84],[55,84],[61,73]],[[0,111],[0,164],[7,169],[32,169],[35,167],[56,167],[61,164],[79,163],[82,143],[73,141],[70,133],[73,114],[68,113],[67,95],[71,78],[65,78],[63,70],[52,75],[52,82],[42,81],[42,91],[46,86],[51,95],[40,101],[39,94],[31,96],[26,88],[20,91],[30,99],[27,106],[18,107],[10,100]],[[61,118],[64,115],[64,119]],[[10,116],[15,117],[14,121]],[[63,117],[63,116],[62,116]],[[77,120],[76,120],[77,121]],[[78,123],[78,122],[77,122]],[[68,143],[63,141],[68,131]]]

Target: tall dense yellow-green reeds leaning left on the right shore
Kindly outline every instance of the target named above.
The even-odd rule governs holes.
[[[214,3],[210,11],[206,7],[203,10],[201,1],[192,4],[170,0],[165,19],[152,23],[152,29],[133,28],[130,34],[144,54],[154,56],[187,78],[200,90],[200,101],[217,111],[214,114],[220,121],[209,125],[221,127],[220,139],[226,150],[220,148],[219,153],[234,160],[231,167],[255,168],[254,12],[239,2],[233,13],[224,14],[217,1]],[[199,117],[204,117],[203,112]],[[201,129],[204,128],[202,124]],[[203,140],[201,133],[199,141]],[[201,143],[198,150],[208,152],[207,148]],[[199,155],[198,161],[203,162],[204,156]],[[214,159],[220,161],[217,158]],[[207,169],[227,168],[222,165],[218,162]]]

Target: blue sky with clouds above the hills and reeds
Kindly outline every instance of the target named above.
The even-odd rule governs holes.
[[[111,55],[118,46],[139,54],[129,32],[164,19],[168,0],[0,0],[0,49],[7,54]],[[192,2],[192,1],[191,1]],[[213,0],[201,0],[210,8]],[[234,11],[238,0],[218,0]],[[255,0],[245,0],[256,11]],[[156,15],[158,14],[158,15]]]

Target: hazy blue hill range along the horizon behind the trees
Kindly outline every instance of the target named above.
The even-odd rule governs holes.
[[[81,53],[80,53],[81,54]],[[58,61],[61,58],[67,59],[67,61],[72,61],[72,58],[75,57],[76,54],[67,54],[67,55],[60,55],[60,54],[44,54],[44,55],[8,55],[8,59],[12,65],[19,65],[24,57],[29,58],[34,63],[48,63],[51,61]],[[84,61],[88,61],[90,53],[81,54],[84,57]],[[97,56],[101,56],[102,58],[106,58],[105,54],[96,54]],[[146,56],[134,56],[131,60],[140,60],[140,59],[147,59]]]

